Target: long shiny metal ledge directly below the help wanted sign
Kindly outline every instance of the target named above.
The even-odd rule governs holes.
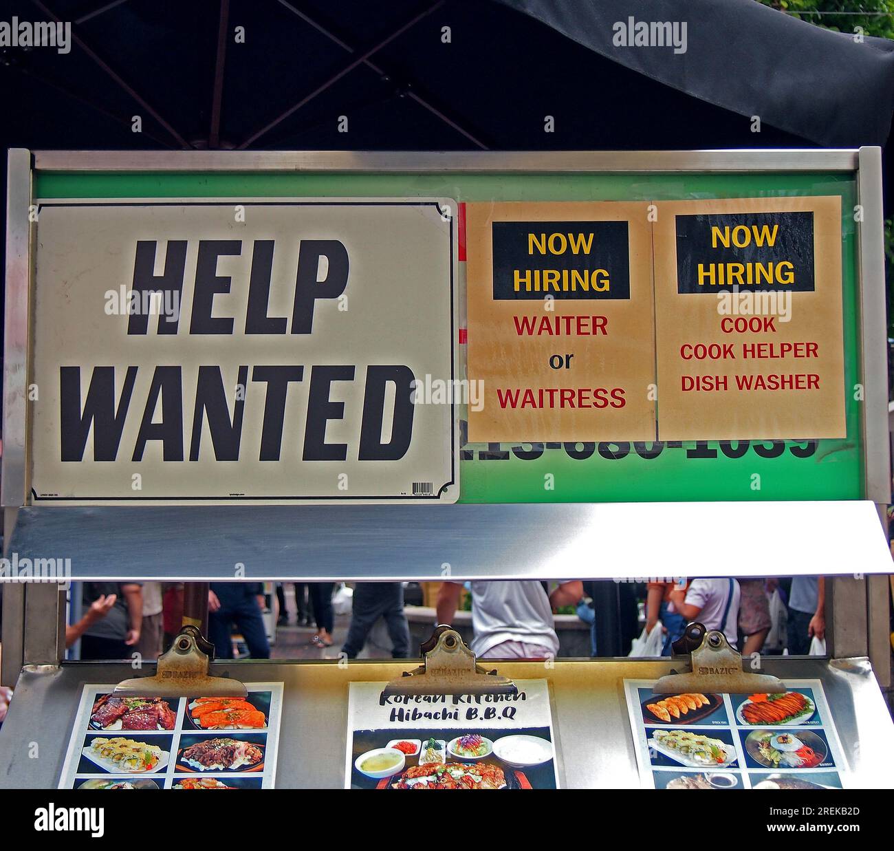
[[[72,579],[171,581],[892,572],[871,501],[38,506],[7,559],[7,577],[54,559]]]

